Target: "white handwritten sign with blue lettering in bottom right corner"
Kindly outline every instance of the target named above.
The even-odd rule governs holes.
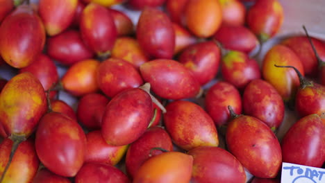
[[[325,183],[325,169],[283,163],[281,183]]]

